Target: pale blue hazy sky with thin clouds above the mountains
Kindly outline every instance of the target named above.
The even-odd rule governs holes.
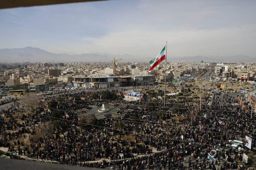
[[[256,56],[256,1],[104,1],[0,10],[0,48]]]

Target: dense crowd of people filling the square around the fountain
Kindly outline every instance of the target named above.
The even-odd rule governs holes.
[[[245,135],[255,138],[256,122],[243,107],[231,105],[236,97],[224,94],[220,100],[211,93],[199,109],[195,103],[177,108],[173,101],[163,107],[161,100],[150,97],[125,101],[123,91],[115,91],[117,99],[105,100],[101,93],[65,92],[44,96],[30,111],[26,104],[2,110],[0,146],[9,147],[13,158],[86,167],[245,169],[241,155],[246,148],[233,150],[228,147],[229,140],[243,141]],[[92,99],[92,94],[97,94],[98,99]],[[86,113],[79,114],[79,109],[103,103],[119,104],[123,116],[105,114],[104,118],[82,121]],[[44,130],[49,133],[34,137]],[[20,140],[26,138],[25,134],[30,137],[30,145]],[[220,153],[210,161],[209,152],[217,148]]]

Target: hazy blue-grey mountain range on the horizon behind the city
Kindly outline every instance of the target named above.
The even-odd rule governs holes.
[[[55,54],[34,47],[0,49],[0,63],[2,62],[110,62],[113,58],[122,58],[123,62],[144,61],[148,62],[152,57],[137,57],[129,54]],[[200,62],[256,62],[256,57],[248,56],[192,56],[192,57],[168,57],[168,61],[195,61]]]

